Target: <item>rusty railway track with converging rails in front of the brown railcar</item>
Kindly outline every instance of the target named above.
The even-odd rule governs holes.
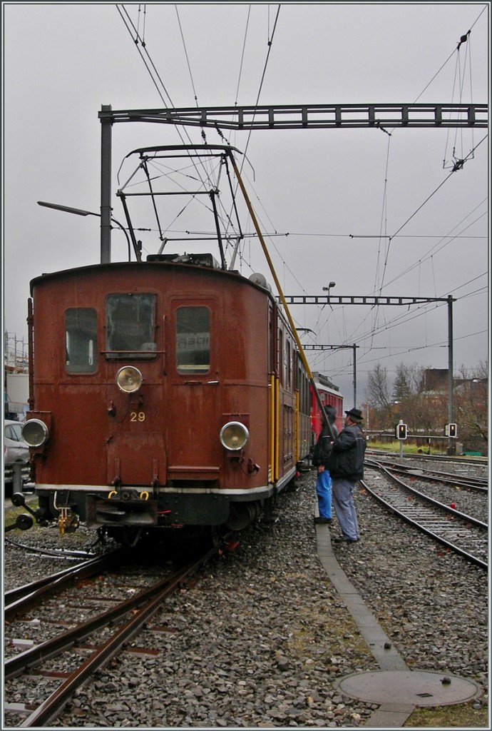
[[[167,577],[154,581],[142,591],[129,589],[132,592],[130,598],[124,599],[116,605],[113,603],[112,607],[91,616],[88,620],[75,623],[74,626],[65,629],[61,634],[57,633],[50,639],[34,644],[30,648],[6,659],[4,662],[4,714],[21,713],[23,721],[20,725],[23,728],[46,727],[50,721],[53,721],[61,713],[77,689],[114,658],[123,646],[139,633],[147,621],[161,607],[162,602],[217,553],[218,547],[215,546],[202,553],[199,558],[195,558],[178,572],[170,573]],[[41,595],[44,597],[53,596],[53,592],[58,592],[62,584],[66,586],[67,581],[81,580],[84,577],[84,572],[86,577],[93,575],[94,572],[97,573],[94,561],[88,561],[86,564],[85,567],[75,567],[72,570],[72,577],[69,577],[69,571],[67,570],[66,572],[60,572],[61,575],[56,575],[52,581],[45,582],[44,586],[36,586],[39,584],[37,582],[34,586],[29,587],[27,585],[9,592],[9,604],[6,609],[10,620],[12,621],[15,616],[28,611],[33,606],[34,596],[39,602]],[[32,591],[29,590],[30,588]],[[99,601],[105,603],[109,599],[103,597],[102,599],[99,598]],[[77,602],[77,599],[75,599],[75,602]],[[87,603],[87,600],[82,599],[82,604],[84,602]],[[52,622],[57,626],[64,624],[56,616]],[[49,624],[49,621],[47,624]],[[118,626],[114,629],[116,624]],[[87,642],[88,638],[91,639],[91,644],[85,644],[82,647],[81,643]],[[89,656],[68,671],[53,670],[50,661],[74,647],[80,652],[90,651]],[[77,656],[79,656],[79,652],[77,654],[72,652],[70,656],[71,666]],[[34,673],[38,678],[44,676],[45,678],[53,678],[53,680],[61,679],[61,683],[58,683],[44,701],[32,708],[32,704],[15,702],[15,678],[26,673],[28,675]]]

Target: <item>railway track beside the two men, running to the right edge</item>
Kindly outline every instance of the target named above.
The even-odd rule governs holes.
[[[396,469],[371,459],[366,459],[365,466],[379,473],[379,480],[371,480],[369,484],[366,475],[366,480],[362,482],[366,492],[374,499],[449,550],[464,556],[467,561],[483,569],[488,568],[487,523],[456,510],[456,507],[452,507],[454,503],[445,505],[412,487],[396,477]],[[415,471],[414,474],[404,471],[404,474],[414,477]],[[424,479],[423,474],[418,477]],[[442,477],[432,477],[430,474],[426,475],[426,479],[442,482]],[[456,485],[457,481],[453,480],[453,484]]]

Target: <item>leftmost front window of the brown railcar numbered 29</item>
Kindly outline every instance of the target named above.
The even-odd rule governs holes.
[[[96,363],[96,310],[73,307],[65,312],[65,365],[68,373],[94,373]]]

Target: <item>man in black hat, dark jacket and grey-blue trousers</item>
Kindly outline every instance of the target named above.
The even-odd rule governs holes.
[[[331,445],[328,461],[331,474],[331,494],[342,538],[334,542],[355,543],[360,538],[353,488],[364,477],[366,439],[362,431],[362,412],[345,412],[345,426]]]

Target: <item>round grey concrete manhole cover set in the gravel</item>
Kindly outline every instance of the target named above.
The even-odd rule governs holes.
[[[369,703],[403,703],[416,706],[464,703],[481,693],[480,686],[473,681],[425,670],[355,673],[342,678],[338,686],[351,698]]]

